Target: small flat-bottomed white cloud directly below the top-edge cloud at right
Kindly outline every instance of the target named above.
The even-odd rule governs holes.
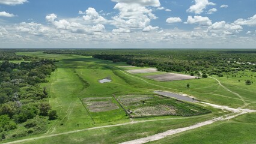
[[[187,22],[189,24],[195,24],[198,23],[203,26],[210,26],[212,25],[212,20],[209,19],[209,17],[202,17],[202,16],[188,16],[187,17]]]

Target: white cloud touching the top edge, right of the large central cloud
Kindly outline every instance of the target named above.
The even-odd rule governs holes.
[[[209,2],[208,0],[195,0],[195,5],[191,5],[189,9],[187,9],[187,12],[201,14],[208,5],[216,4],[213,2]]]

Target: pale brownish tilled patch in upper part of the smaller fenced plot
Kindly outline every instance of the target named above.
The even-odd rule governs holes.
[[[107,112],[119,107],[112,102],[111,97],[106,98],[84,98],[84,103],[90,112]]]

